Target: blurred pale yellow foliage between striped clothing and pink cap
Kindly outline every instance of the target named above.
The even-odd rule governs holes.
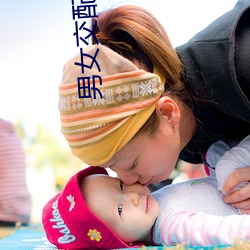
[[[53,136],[45,125],[39,124],[32,137],[27,135],[20,120],[17,120],[14,125],[24,144],[27,167],[38,170],[51,167],[58,191],[73,174],[85,167],[84,163],[71,153],[66,140]]]

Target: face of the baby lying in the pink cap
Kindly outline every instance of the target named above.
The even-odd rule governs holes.
[[[141,184],[127,186],[105,175],[85,178],[88,206],[126,243],[144,240],[159,214],[159,204]]]

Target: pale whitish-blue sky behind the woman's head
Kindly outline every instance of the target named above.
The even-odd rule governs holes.
[[[163,24],[174,46],[185,43],[236,0],[96,0],[97,11],[136,4]],[[75,5],[80,0],[75,0]],[[0,15],[0,117],[21,119],[33,134],[43,123],[61,137],[58,85],[64,63],[79,53],[71,0],[2,1]]]

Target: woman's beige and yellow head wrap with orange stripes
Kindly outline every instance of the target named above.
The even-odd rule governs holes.
[[[84,57],[84,65],[93,64],[84,68],[84,73],[75,65],[83,63],[82,55],[64,66],[59,86],[61,129],[72,153],[86,164],[98,166],[109,161],[145,124],[164,92],[165,80],[158,74],[139,70],[100,43],[82,53],[91,56]],[[93,76],[100,76],[101,82]],[[89,77],[90,86],[95,84],[99,89],[96,98],[93,90],[92,97],[79,98],[78,82],[82,86],[79,78],[83,77]]]

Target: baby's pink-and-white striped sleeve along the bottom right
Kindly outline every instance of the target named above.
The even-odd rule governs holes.
[[[215,246],[250,239],[250,215],[215,216],[203,212],[173,211],[161,225],[161,243],[173,246]]]

